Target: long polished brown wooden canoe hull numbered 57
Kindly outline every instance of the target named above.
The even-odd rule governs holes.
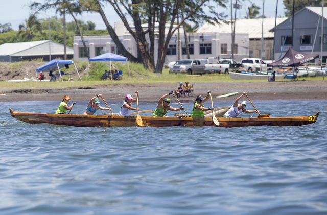
[[[26,123],[49,123],[53,125],[77,127],[129,127],[137,126],[136,116],[79,115],[17,112],[10,109],[10,115]],[[315,123],[319,112],[313,116],[261,117],[261,118],[217,118],[219,126],[212,117],[154,117],[142,116],[144,126],[215,126],[215,127],[245,127],[245,126],[302,126]]]

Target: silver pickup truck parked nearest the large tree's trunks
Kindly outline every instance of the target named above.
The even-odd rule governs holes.
[[[192,74],[203,74],[204,65],[209,63],[207,59],[195,59],[195,60],[177,60],[176,63],[169,70],[169,73],[187,73]]]

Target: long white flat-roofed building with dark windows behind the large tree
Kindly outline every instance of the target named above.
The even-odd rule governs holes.
[[[156,28],[158,25],[156,24]],[[147,28],[147,25],[144,25]],[[168,32],[169,25],[166,26],[166,32]],[[180,59],[186,59],[186,46],[183,28],[180,28]],[[135,57],[137,57],[137,44],[135,39],[126,30],[122,22],[115,23],[115,32],[118,35],[120,41],[125,48]],[[171,37],[165,63],[177,60],[178,49],[178,34],[175,31]],[[84,36],[86,46],[89,49],[90,57],[98,56],[105,52],[112,52],[118,54],[116,45],[110,36]],[[149,41],[149,39],[147,38]],[[249,56],[249,37],[247,33],[236,34],[235,43],[237,44],[235,49],[235,59],[240,60]],[[210,32],[210,33],[188,33],[188,43],[191,59],[206,59],[215,58],[212,62],[217,62],[219,57],[229,57],[230,50],[227,50],[227,44],[231,43],[231,37],[229,33]],[[157,61],[157,47],[158,41],[155,39],[154,47],[154,59]],[[74,37],[74,59],[75,60],[87,60],[83,51],[83,43],[80,36]]]

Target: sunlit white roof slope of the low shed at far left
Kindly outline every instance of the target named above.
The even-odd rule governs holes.
[[[49,40],[5,43],[0,45],[0,56],[12,55],[17,52],[31,49],[31,47],[43,44],[45,42],[49,42]]]

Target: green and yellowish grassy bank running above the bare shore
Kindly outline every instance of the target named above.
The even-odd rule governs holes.
[[[10,67],[17,69],[21,67],[21,62],[16,62],[10,65]],[[30,89],[30,88],[87,88],[87,87],[105,87],[112,84],[132,84],[132,83],[178,83],[189,81],[191,84],[196,82],[242,82],[248,80],[233,80],[229,75],[224,74],[205,74],[202,76],[189,76],[186,74],[169,74],[169,69],[163,69],[162,74],[151,73],[151,71],[145,69],[142,64],[129,63],[130,74],[128,73],[128,64],[121,64],[118,62],[112,63],[112,70],[118,69],[123,71],[123,80],[100,81],[100,77],[104,73],[104,70],[110,70],[109,63],[96,62],[90,63],[89,73],[87,74],[87,61],[77,61],[76,66],[82,78],[82,82],[75,76],[74,82],[0,82],[0,86],[5,89]],[[74,66],[69,69],[62,68],[64,73],[68,71],[70,73],[76,72],[73,70]],[[323,80],[322,76],[319,77],[306,77],[299,78],[298,80]],[[266,82],[267,80],[251,80],[251,82]],[[283,80],[292,81],[292,80]],[[327,80],[326,80],[327,81]]]

